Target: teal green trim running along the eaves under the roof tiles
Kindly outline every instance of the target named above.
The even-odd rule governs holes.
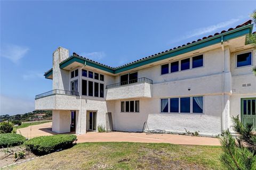
[[[127,71],[127,70],[137,68],[137,67],[142,66],[142,65],[146,65],[146,64],[157,62],[157,61],[165,60],[166,58],[178,56],[178,55],[181,55],[181,54],[192,52],[192,51],[197,50],[197,49],[201,49],[201,48],[204,48],[204,47],[207,47],[207,46],[218,44],[218,43],[221,43],[222,41],[227,41],[227,40],[234,39],[234,38],[237,38],[237,37],[241,37],[241,36],[244,36],[244,35],[249,35],[250,33],[252,33],[252,29],[253,29],[253,24],[248,24],[248,25],[245,25],[245,26],[240,27],[240,28],[236,28],[236,29],[224,32],[224,33],[220,33],[217,36],[206,38],[206,39],[203,39],[201,41],[196,41],[195,43],[192,43],[192,44],[180,47],[180,48],[176,48],[176,49],[173,49],[173,50],[170,50],[168,52],[161,53],[161,54],[158,54],[158,55],[155,55],[155,56],[152,56],[152,57],[148,57],[148,58],[145,58],[143,60],[136,61],[134,63],[129,63],[129,64],[126,64],[124,66],[117,67],[117,68],[111,68],[111,67],[99,64],[97,62],[90,61],[86,58],[73,55],[73,56],[69,57],[67,60],[60,63],[60,69],[63,69],[64,67],[70,65],[71,63],[77,62],[77,63],[81,63],[81,64],[84,64],[84,65],[92,66],[94,68],[97,68],[97,69],[100,69],[100,70],[103,70],[103,71],[107,71],[109,73],[117,74],[117,73],[121,73],[121,72],[124,72],[124,71]],[[51,75],[51,74],[52,74],[52,71],[45,74],[45,78],[49,77],[49,75]]]

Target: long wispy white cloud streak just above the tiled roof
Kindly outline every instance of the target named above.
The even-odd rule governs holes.
[[[170,44],[171,43],[177,43],[179,41],[182,41],[182,40],[185,40],[185,39],[188,39],[188,38],[191,38],[191,37],[196,37],[196,36],[204,35],[206,33],[211,33],[211,32],[217,31],[217,30],[219,30],[221,28],[226,28],[229,25],[238,22],[239,20],[241,20],[241,17],[237,18],[237,19],[230,19],[230,20],[225,21],[225,22],[220,22],[220,23],[217,23],[215,25],[210,25],[208,27],[197,28],[197,29],[195,29],[193,31],[187,32],[185,36],[181,36],[181,37],[179,37],[179,38],[177,38],[175,40],[172,40],[170,42]]]

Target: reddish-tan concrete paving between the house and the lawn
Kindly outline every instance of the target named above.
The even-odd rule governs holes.
[[[27,128],[18,129],[17,133],[26,138],[34,138],[43,135],[54,135],[51,131],[52,122],[32,125]],[[133,132],[88,132],[77,135],[77,142],[146,142],[146,143],[173,143],[179,145],[209,145],[220,146],[218,138],[191,137],[178,134],[146,134]]]

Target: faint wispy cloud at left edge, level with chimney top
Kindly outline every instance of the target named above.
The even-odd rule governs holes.
[[[11,60],[13,63],[17,64],[19,60],[27,54],[28,50],[28,47],[22,47],[13,44],[5,44],[1,47],[0,54],[1,57],[5,57]]]

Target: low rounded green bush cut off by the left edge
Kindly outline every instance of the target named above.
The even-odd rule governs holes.
[[[4,133],[0,134],[0,147],[14,147],[21,145],[26,141],[26,138],[20,134]]]

